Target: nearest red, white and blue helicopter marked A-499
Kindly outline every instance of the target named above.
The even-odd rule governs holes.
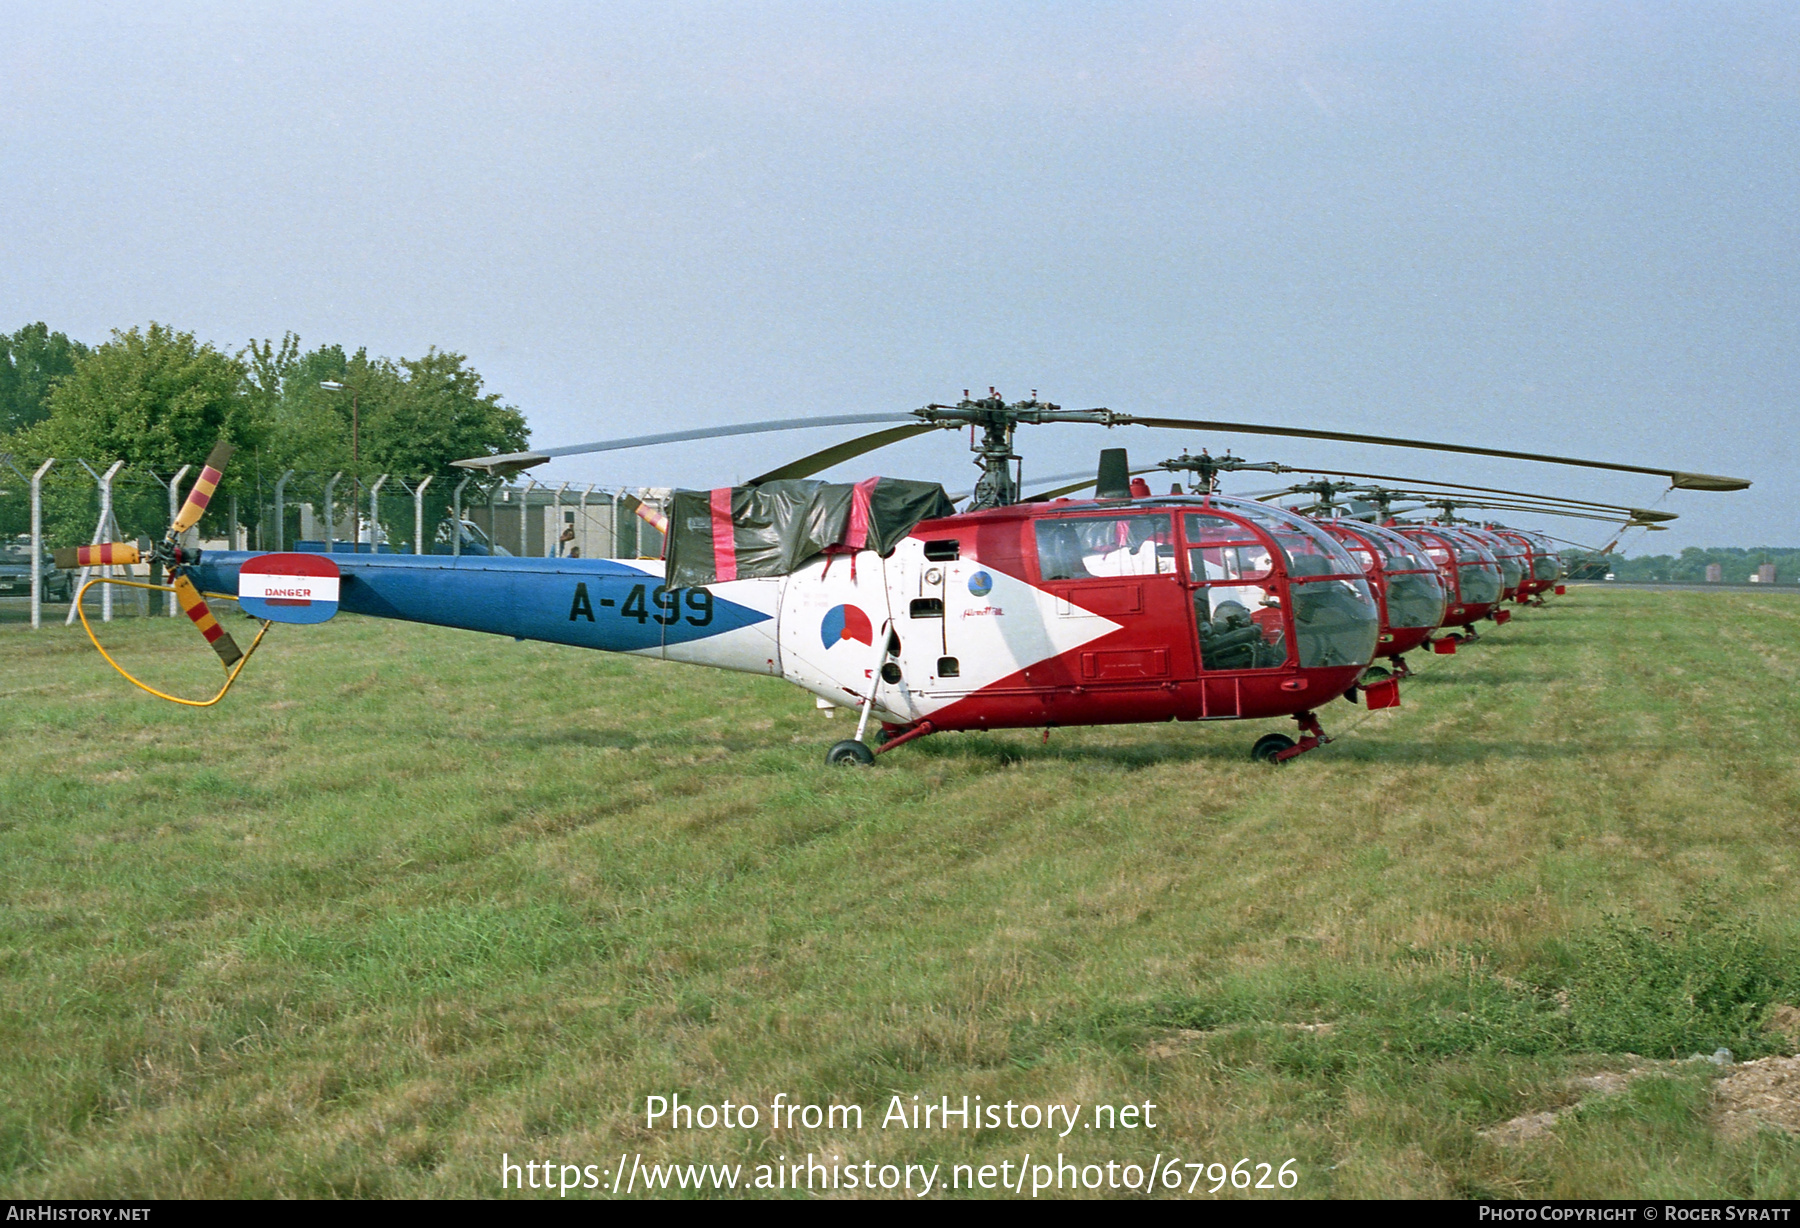
[[[855,736],[826,751],[833,765],[868,765],[950,731],[1285,717],[1298,740],[1269,733],[1251,747],[1280,763],[1330,740],[1316,709],[1345,695],[1377,655],[1381,612],[1364,564],[1283,508],[1211,492],[1157,497],[1141,483],[1134,490],[1125,448],[1102,450],[1093,497],[1026,495],[1017,429],[1274,434],[1654,474],[1685,490],[1750,484],[1334,430],[1069,411],[1035,393],[1006,402],[994,389],[898,414],[680,430],[457,465],[495,475],[558,456],[877,423],[880,430],[740,486],[675,492],[662,560],[202,555],[180,546],[180,533],[220,481],[229,461],[221,445],[160,546],[95,544],[70,551],[67,564],[148,556],[169,567],[184,609],[229,670],[227,688],[248,654],[202,591],[259,618],[257,643],[275,621],[322,621],[344,609],[781,677],[821,706],[857,711]],[[878,447],[961,429],[979,470],[963,510],[934,483],[808,481]],[[1494,580],[1498,601],[1498,573]],[[1469,594],[1460,607],[1474,609]],[[878,733],[866,736],[871,724]]]

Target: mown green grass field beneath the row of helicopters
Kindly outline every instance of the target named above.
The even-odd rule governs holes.
[[[110,634],[216,684],[185,625]],[[194,713],[9,628],[0,1194],[1062,1151],[1292,1158],[1291,1196],[1796,1197],[1800,1138],[1721,1133],[1728,1071],[1661,1064],[1793,1052],[1796,672],[1793,596],[1571,589],[1285,769],[1246,754],[1271,722],[828,771],[848,722],[767,679],[346,616]],[[866,1125],[646,1129],[670,1093]],[[1157,1129],[880,1129],[896,1093]]]

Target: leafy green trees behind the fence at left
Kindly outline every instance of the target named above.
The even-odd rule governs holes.
[[[239,522],[256,524],[275,477],[290,468],[461,481],[464,470],[450,461],[518,452],[529,429],[517,407],[484,389],[464,355],[436,348],[419,358],[382,358],[344,346],[304,349],[286,333],[227,353],[155,322],[113,330],[95,346],[43,322],[0,333],[0,452],[27,474],[54,456],[68,465],[124,461],[167,479],[182,465],[198,472],[218,439],[238,454],[207,511],[209,533],[221,531],[232,495]],[[88,481],[85,501],[47,495],[54,504],[47,515],[79,519],[85,504],[92,531],[92,490]],[[23,531],[11,524],[18,501],[0,502],[7,520],[0,533]],[[135,502],[144,508],[133,519],[167,519],[166,497]],[[128,535],[153,528],[126,526],[124,511]]]

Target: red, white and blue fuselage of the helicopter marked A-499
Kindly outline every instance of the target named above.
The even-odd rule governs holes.
[[[1289,576],[1282,549],[1226,574],[1193,526],[1229,506],[1013,504],[927,520],[886,558],[695,589],[668,589],[661,560],[331,558],[342,610],[781,677],[828,706],[873,695],[889,731],[1287,717],[1337,699],[1375,650],[1366,585]],[[236,594],[254,556],[209,551],[196,580]]]

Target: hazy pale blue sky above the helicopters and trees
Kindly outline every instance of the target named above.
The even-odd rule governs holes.
[[[1679,513],[1634,553],[1800,546],[1796,189],[1793,4],[171,0],[0,38],[7,331],[436,346],[538,447],[994,385],[1755,481],[1021,432],[1028,484],[1229,447]],[[720,486],[851,430],[533,475]],[[875,472],[974,475],[936,432],[828,475]]]

